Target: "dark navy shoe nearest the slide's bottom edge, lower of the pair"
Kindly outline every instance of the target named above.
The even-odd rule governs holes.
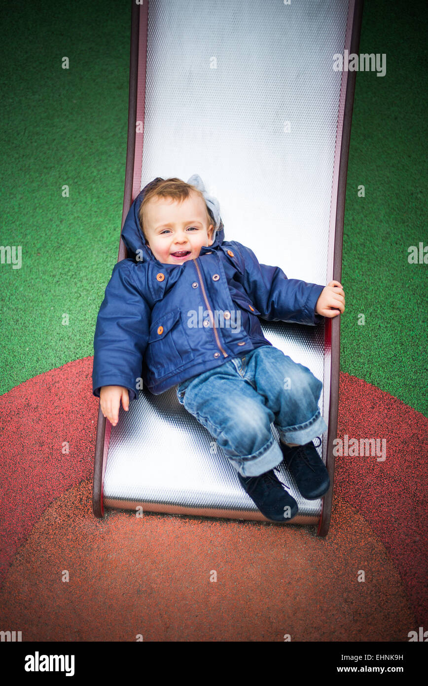
[[[276,477],[272,469],[259,476],[242,476],[238,472],[238,479],[267,519],[289,521],[297,514],[296,501],[284,490],[283,486],[287,486]]]

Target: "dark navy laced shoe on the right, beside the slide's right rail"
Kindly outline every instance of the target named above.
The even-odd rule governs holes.
[[[284,462],[294,476],[296,486],[305,499],[316,500],[329,490],[329,473],[312,441],[305,443],[305,445],[292,447],[284,445],[280,441],[280,447],[283,451]]]

